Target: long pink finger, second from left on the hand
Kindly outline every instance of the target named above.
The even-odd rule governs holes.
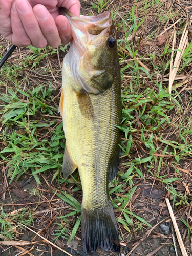
[[[27,0],[15,0],[15,7],[32,45],[38,48],[45,47],[47,45],[47,40],[41,32],[29,2]]]

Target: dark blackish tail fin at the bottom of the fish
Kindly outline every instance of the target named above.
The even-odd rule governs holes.
[[[93,206],[94,208],[94,206]],[[85,253],[99,247],[120,252],[119,233],[111,201],[102,209],[81,209],[81,238]]]

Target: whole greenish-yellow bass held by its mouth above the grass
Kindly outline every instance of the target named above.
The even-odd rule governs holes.
[[[120,252],[119,233],[109,197],[118,172],[121,133],[121,78],[112,16],[77,17],[60,10],[73,40],[63,60],[59,111],[66,147],[63,176],[78,168],[83,199],[81,239],[85,253],[99,247]]]

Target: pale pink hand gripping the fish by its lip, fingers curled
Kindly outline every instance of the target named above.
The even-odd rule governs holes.
[[[0,34],[20,47],[68,44],[71,29],[67,18],[59,15],[59,7],[80,14],[78,0],[0,0]]]

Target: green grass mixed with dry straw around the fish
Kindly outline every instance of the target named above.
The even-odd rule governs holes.
[[[176,78],[169,94],[174,27],[169,29],[162,45],[157,46],[156,39],[164,27],[180,19],[176,25],[176,46],[179,45],[186,24],[180,6],[175,9],[169,1],[143,0],[123,7],[123,4],[112,5],[99,0],[90,7],[94,13],[112,9],[118,34],[123,106],[119,126],[122,130],[122,155],[118,175],[109,184],[109,189],[120,238],[125,243],[153,226],[148,222],[150,216],[146,218],[146,214],[133,208],[140,193],[139,185],[150,184],[161,189],[164,197],[168,193],[173,199],[173,209],[188,209],[190,215],[192,45],[188,37],[177,73],[183,78]],[[90,9],[83,12],[88,13]],[[3,55],[6,46],[7,42],[2,39],[0,54]],[[67,179],[62,178],[65,135],[62,119],[57,114],[61,84],[59,63],[68,49],[69,46],[17,49],[14,57],[0,70],[0,163],[3,169],[0,197],[4,199],[4,191],[7,191],[4,174],[9,189],[12,184],[17,186],[17,182],[21,184],[33,176],[34,189],[29,194],[35,195],[38,202],[30,210],[24,208],[17,215],[10,214],[7,201],[2,204],[2,239],[20,237],[22,230],[18,222],[38,230],[51,228],[55,243],[80,237],[81,183],[77,171]],[[176,53],[177,48],[174,57]],[[55,198],[56,203],[52,201]],[[158,200],[157,205],[163,203],[162,197]],[[37,214],[40,201],[49,201],[49,218]],[[155,203],[153,200],[148,202]],[[66,207],[64,212],[60,210],[61,206]],[[52,208],[60,214],[55,214]],[[187,230],[186,242],[191,234],[186,213],[181,220],[182,232]]]

